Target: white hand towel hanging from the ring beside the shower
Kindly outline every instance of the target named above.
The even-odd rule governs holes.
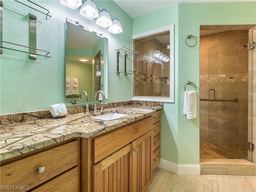
[[[187,119],[197,118],[196,91],[185,91],[183,114]]]

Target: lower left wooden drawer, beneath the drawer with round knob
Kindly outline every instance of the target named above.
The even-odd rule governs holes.
[[[34,189],[31,192],[56,192],[56,191],[72,191],[79,192],[79,167],[76,166],[60,176],[46,182]]]

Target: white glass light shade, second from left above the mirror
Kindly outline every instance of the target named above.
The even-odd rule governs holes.
[[[87,0],[86,2],[84,2],[80,9],[80,15],[90,20],[98,17],[98,9],[94,2],[92,2],[91,0]]]

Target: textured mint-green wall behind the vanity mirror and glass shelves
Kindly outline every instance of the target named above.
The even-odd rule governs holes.
[[[29,2],[22,0],[25,4]],[[119,46],[132,49],[132,18],[112,0],[94,1],[98,9],[106,8],[112,18],[117,17],[124,32],[112,34],[108,28],[96,25],[79,14],[80,8],[72,10],[59,0],[33,1],[50,11],[49,20],[13,0],[3,0],[3,40],[28,46],[29,16],[35,14],[37,22],[37,48],[49,51],[52,58],[28,59],[28,54],[4,50],[0,55],[0,114],[47,110],[48,106],[65,103],[65,39],[66,18],[76,20],[83,26],[92,26],[108,38],[108,101],[131,100],[132,76],[121,76],[116,71],[116,50]],[[32,6],[34,7],[34,6]],[[5,45],[5,44],[4,44]],[[128,59],[128,67],[132,60]],[[92,102],[90,102],[92,103]],[[80,102],[76,106],[85,105]],[[67,103],[66,106],[74,106]]]

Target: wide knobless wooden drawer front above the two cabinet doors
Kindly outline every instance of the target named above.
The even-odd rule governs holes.
[[[92,162],[96,163],[152,130],[153,118],[148,117],[134,124],[92,139]]]

